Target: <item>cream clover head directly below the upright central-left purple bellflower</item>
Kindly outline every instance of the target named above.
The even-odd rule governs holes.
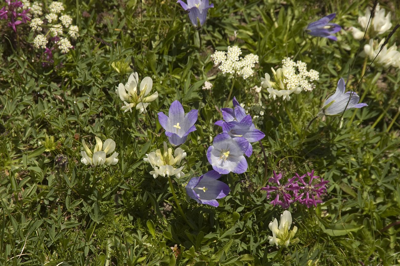
[[[147,158],[143,158],[143,160],[151,164],[154,171],[150,171],[150,174],[152,174],[154,178],[157,176],[176,176],[180,178],[180,176],[184,175],[182,172],[184,166],[177,168],[181,160],[186,157],[186,152],[181,148],[176,148],[172,156],[172,148],[168,148],[164,141],[163,153],[158,149],[156,152],[146,154],[146,156]]]

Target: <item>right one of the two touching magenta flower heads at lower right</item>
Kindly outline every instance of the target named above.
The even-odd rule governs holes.
[[[306,183],[304,181],[304,177],[308,175],[310,177],[310,181]],[[304,174],[303,176],[299,176],[296,174],[296,177],[298,178],[298,189],[302,189],[303,192],[298,195],[294,200],[298,200],[301,204],[304,204],[307,206],[307,208],[310,208],[311,206],[317,206],[317,203],[322,203],[321,200],[321,195],[326,193],[326,187],[325,184],[327,184],[329,181],[321,178],[321,182],[314,182],[314,180],[318,180],[319,176],[314,176],[314,170],[310,172],[307,172],[307,174]],[[305,198],[303,198],[305,196]]]

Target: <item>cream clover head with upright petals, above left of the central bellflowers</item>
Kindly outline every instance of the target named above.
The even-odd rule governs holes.
[[[149,105],[149,102],[152,102],[158,98],[158,92],[154,92],[152,95],[145,97],[148,95],[153,87],[153,80],[150,77],[145,77],[139,85],[139,77],[138,73],[134,72],[130,74],[128,78],[128,82],[124,85],[120,83],[118,85],[118,89],[115,91],[120,99],[124,101],[125,106],[122,106],[122,110],[124,112],[132,112],[132,108],[136,106],[136,110],[139,110],[139,113],[146,113],[146,107]]]

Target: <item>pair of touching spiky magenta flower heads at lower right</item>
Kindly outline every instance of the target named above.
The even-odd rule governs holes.
[[[297,201],[310,208],[311,206],[317,206],[317,203],[322,203],[321,196],[326,193],[325,185],[329,181],[323,178],[319,180],[319,176],[314,176],[314,170],[302,176],[296,173],[295,176],[289,178],[286,184],[282,184],[282,174],[276,174],[275,171],[273,173],[274,177],[268,180],[273,184],[267,185],[261,190],[267,192],[267,198],[274,198],[271,201],[274,206],[278,204],[287,209],[291,203]]]

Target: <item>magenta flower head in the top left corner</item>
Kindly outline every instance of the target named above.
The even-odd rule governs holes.
[[[3,6],[2,9],[0,9],[0,19],[6,20],[8,19],[8,16],[10,16],[11,21],[8,22],[8,26],[10,26],[14,32],[17,32],[16,26],[30,21],[30,18],[27,15],[30,8],[18,12],[17,9],[24,6],[21,1],[15,0],[12,2],[11,0],[5,0],[5,2],[7,3],[7,6]],[[20,18],[20,20],[18,20],[18,18]]]

